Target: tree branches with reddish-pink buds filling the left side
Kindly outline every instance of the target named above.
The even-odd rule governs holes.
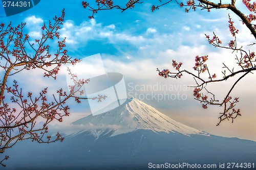
[[[64,138],[58,132],[54,136],[47,135],[48,125],[53,120],[62,122],[64,116],[69,116],[69,99],[75,98],[76,102],[80,103],[81,99],[101,101],[106,98],[76,97],[75,93],[82,94],[81,87],[90,80],[76,80],[76,75],[72,72],[69,72],[73,81],[69,86],[69,92],[61,88],[49,94],[48,87],[45,87],[36,94],[25,91],[15,80],[10,83],[10,77],[17,76],[23,70],[33,69],[44,70],[45,78],[56,80],[62,65],[75,65],[80,62],[69,57],[68,51],[64,49],[66,38],[58,40],[56,52],[53,55],[50,53],[51,47],[48,43],[50,40],[59,39],[64,17],[63,10],[60,17],[53,18],[53,22],[49,21],[48,25],[44,23],[40,39],[34,41],[28,34],[24,34],[26,23],[16,27],[12,27],[11,23],[7,26],[4,23],[0,24],[0,69],[4,72],[0,81],[0,153],[12,148],[18,141],[26,139],[38,143],[62,141]],[[0,164],[5,166],[3,161],[8,158],[6,156]]]

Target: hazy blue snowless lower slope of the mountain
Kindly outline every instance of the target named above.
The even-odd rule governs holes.
[[[253,163],[256,161],[256,142],[139,129],[113,137],[102,135],[97,140],[90,132],[83,132],[52,144],[26,141],[17,143],[6,154],[10,156],[8,170],[142,170],[152,169],[148,168],[150,162],[217,165],[223,162]]]

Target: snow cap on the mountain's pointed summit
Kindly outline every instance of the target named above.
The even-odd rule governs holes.
[[[111,107],[108,106],[108,108]],[[181,124],[134,98],[127,99],[123,105],[111,111],[95,116],[83,117],[74,122],[73,125],[84,126],[84,131],[91,131],[96,138],[106,133],[111,133],[111,136],[115,136],[137,129],[152,130],[156,133],[178,132],[184,135],[209,135],[203,131]]]

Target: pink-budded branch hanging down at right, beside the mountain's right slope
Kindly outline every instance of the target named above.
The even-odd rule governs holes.
[[[235,109],[236,104],[239,102],[239,98],[234,98],[233,100],[232,97],[230,96],[230,93],[234,89],[234,87],[237,85],[237,83],[244,78],[247,74],[250,72],[256,70],[256,65],[254,62],[256,62],[255,59],[255,54],[254,52],[246,52],[245,50],[242,49],[242,47],[238,48],[237,47],[237,37],[236,35],[239,33],[239,30],[237,30],[234,25],[233,21],[231,20],[229,16],[229,31],[230,34],[234,37],[233,40],[230,40],[230,42],[227,44],[227,46],[222,45],[222,41],[220,38],[215,34],[212,38],[210,38],[209,35],[205,35],[208,43],[211,44],[214,47],[220,47],[220,48],[226,48],[231,50],[232,52],[240,52],[240,58],[236,56],[236,60],[238,61],[237,64],[240,66],[241,69],[234,71],[234,68],[230,69],[229,67],[226,66],[226,64],[223,63],[223,68],[225,69],[222,71],[223,78],[216,79],[217,76],[216,74],[211,75],[209,68],[206,64],[206,61],[208,60],[208,56],[196,56],[195,58],[195,66],[193,67],[195,71],[197,71],[197,74],[193,74],[193,72],[190,72],[186,69],[180,70],[180,67],[182,63],[177,63],[175,60],[173,60],[173,67],[177,70],[176,72],[171,72],[169,69],[164,69],[160,71],[157,68],[157,71],[159,72],[159,76],[164,77],[164,78],[181,78],[182,73],[185,72],[186,74],[192,75],[196,81],[196,86],[194,86],[194,96],[195,99],[198,100],[202,104],[202,107],[204,109],[208,108],[208,105],[219,105],[223,107],[223,112],[221,112],[219,116],[219,123],[217,126],[220,125],[220,123],[225,120],[225,119],[231,119],[232,123],[235,118],[241,115],[240,109]],[[205,80],[202,78],[202,74],[208,74],[208,80]],[[227,73],[228,72],[228,73]],[[206,86],[207,84],[211,83],[216,83],[216,82],[222,82],[226,81],[231,77],[234,77],[236,75],[243,74],[240,76],[235,83],[233,83],[232,87],[229,89],[227,94],[225,95],[223,100],[216,100],[215,94],[208,91]],[[203,91],[206,91],[207,95],[203,93]],[[210,95],[210,99],[208,97]]]

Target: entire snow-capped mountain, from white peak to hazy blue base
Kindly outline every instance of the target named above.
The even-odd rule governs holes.
[[[137,99],[115,105],[76,120],[72,126],[79,130],[63,142],[17,143],[7,153],[6,169],[151,169],[164,163],[216,164],[218,169],[220,163],[256,163],[255,141],[188,127]]]

